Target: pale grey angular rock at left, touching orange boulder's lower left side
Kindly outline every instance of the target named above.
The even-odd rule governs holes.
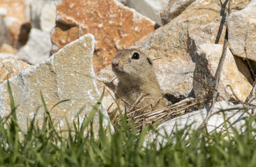
[[[49,58],[51,48],[50,34],[39,29],[31,29],[29,41],[17,52],[17,56],[35,65]]]

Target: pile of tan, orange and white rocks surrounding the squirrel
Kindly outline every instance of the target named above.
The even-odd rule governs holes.
[[[127,48],[142,49],[155,60],[160,87],[170,104],[202,98],[215,79],[225,22],[229,46],[215,111],[240,107],[248,102],[255,81],[255,8],[255,0],[233,1],[227,17],[227,1],[219,0],[0,0],[0,116],[10,113],[5,81],[9,78],[24,130],[24,120],[37,110],[39,122],[43,117],[40,91],[49,109],[70,100],[51,111],[65,128],[65,117],[72,122],[82,107],[84,116],[100,97],[103,85],[96,79],[115,88],[110,63],[117,50]],[[107,109],[115,107],[111,94],[106,91],[103,98],[105,125],[110,120]],[[255,104],[254,97],[255,93],[250,104]],[[207,106],[170,121],[183,127],[191,120],[202,122],[198,114],[204,117],[206,112]],[[212,118],[209,126],[217,126],[216,120],[223,122]],[[97,123],[94,126],[98,128]]]

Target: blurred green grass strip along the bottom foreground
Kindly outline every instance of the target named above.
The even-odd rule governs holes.
[[[21,132],[9,84],[8,90],[12,112],[0,118],[0,166],[256,166],[256,129],[252,126],[255,117],[246,120],[246,131],[240,134],[236,129],[232,135],[205,131],[186,134],[188,126],[176,130],[173,136],[163,136],[165,144],[151,141],[145,146],[146,134],[158,132],[146,126],[142,133],[136,134],[134,123],[126,125],[125,116],[112,134],[106,132],[109,129],[103,129],[101,114],[99,131],[91,129],[84,133],[91,127],[103,96],[86,120],[80,125],[73,122],[76,128],[69,128],[63,135],[54,126],[41,94],[45,107],[43,127],[36,126],[33,119],[28,122],[27,132]],[[99,137],[95,138],[94,133]],[[20,136],[23,139],[19,139]]]

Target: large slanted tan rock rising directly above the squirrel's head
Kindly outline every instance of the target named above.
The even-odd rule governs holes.
[[[234,1],[232,11],[241,10],[247,3],[248,1]],[[181,15],[153,33],[149,33],[133,47],[147,51],[153,58],[178,56],[189,59],[188,32],[211,22],[220,24],[224,15],[223,6],[218,0],[195,1]]]

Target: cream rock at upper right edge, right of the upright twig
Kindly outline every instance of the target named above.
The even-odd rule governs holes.
[[[252,0],[246,8],[231,13],[227,20],[229,47],[232,53],[256,61],[256,1]]]

